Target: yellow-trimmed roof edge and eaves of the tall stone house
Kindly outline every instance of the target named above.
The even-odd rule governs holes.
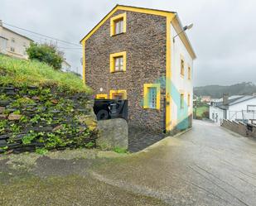
[[[158,10],[158,9],[151,9],[151,8],[145,8],[145,7],[124,6],[124,5],[118,5],[117,4],[96,26],[94,26],[94,28],[92,30],[89,31],[89,33],[87,33],[87,35],[85,35],[83,37],[83,39],[81,39],[80,43],[89,39],[89,37],[91,35],[93,35],[94,32],[97,31],[99,29],[99,27],[102,26],[104,24],[104,22],[106,22],[109,19],[109,17],[111,15],[113,15],[114,12],[116,12],[117,10],[125,10],[125,11],[130,11],[130,12],[142,12],[142,13],[147,13],[147,14],[152,14],[152,15],[157,15],[157,16],[162,16],[162,17],[170,17],[170,15],[172,15],[173,20],[174,20],[174,22],[176,22],[176,25],[177,25],[177,26],[174,26],[175,29],[178,30],[176,32],[179,33],[179,31],[181,31],[183,29],[183,26],[181,24],[181,20],[178,17],[176,12],[170,12],[170,11]],[[189,41],[188,37],[186,36],[186,32],[181,33],[181,41],[186,41],[185,43],[189,47],[187,49],[191,53],[192,58],[196,59],[196,53],[195,53],[195,51],[193,50],[193,48],[191,46],[191,42]]]

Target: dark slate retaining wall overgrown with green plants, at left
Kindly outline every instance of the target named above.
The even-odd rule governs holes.
[[[86,93],[0,84],[0,152],[95,146],[92,108]]]

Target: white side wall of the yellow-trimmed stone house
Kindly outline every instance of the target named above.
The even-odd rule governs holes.
[[[191,55],[186,50],[179,36],[176,36],[173,42],[173,36],[176,36],[176,31],[171,25],[171,124],[176,125],[182,118],[193,113],[193,60]],[[181,77],[181,55],[184,57],[184,77]],[[188,79],[188,65],[191,67],[191,79]],[[185,108],[181,110],[180,93],[184,93]],[[187,94],[190,93],[190,106],[187,102]]]

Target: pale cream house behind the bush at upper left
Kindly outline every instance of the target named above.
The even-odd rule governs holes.
[[[2,20],[0,20],[0,53],[20,59],[27,59],[26,50],[31,42],[32,40],[27,36],[22,36],[16,31],[2,26]]]

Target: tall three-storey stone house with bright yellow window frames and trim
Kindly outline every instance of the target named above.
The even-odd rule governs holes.
[[[128,99],[129,127],[191,127],[196,54],[176,12],[117,5],[80,41],[95,98]]]

